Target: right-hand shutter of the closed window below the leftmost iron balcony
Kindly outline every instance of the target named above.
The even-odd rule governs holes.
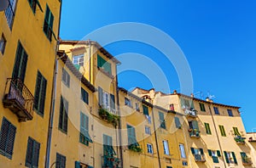
[[[14,150],[14,144],[15,144],[15,133],[16,133],[16,127],[12,124],[9,125],[9,135],[8,135],[8,141],[6,144],[6,154],[9,158],[12,157],[13,150]]]

